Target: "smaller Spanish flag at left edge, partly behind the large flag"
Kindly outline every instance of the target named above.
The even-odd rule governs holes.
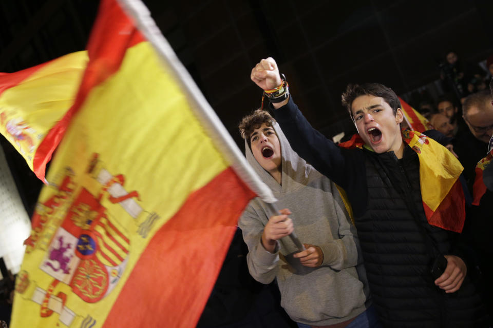
[[[87,52],[79,51],[23,71],[0,73],[0,133],[42,181],[87,61]]]

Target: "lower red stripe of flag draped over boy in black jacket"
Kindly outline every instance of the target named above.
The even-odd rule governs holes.
[[[457,179],[434,212],[423,201],[423,208],[428,222],[435,227],[458,233],[462,232],[466,216],[464,199],[461,180]]]

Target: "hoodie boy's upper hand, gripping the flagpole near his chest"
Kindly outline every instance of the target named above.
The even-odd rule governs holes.
[[[279,213],[280,215],[271,216],[263,228],[262,245],[270,253],[274,253],[278,239],[288,236],[294,230],[293,221],[288,217],[291,211],[282,209]]]

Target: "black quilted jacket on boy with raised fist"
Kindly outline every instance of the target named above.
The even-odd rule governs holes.
[[[382,324],[481,326],[483,307],[468,278],[451,295],[433,284],[430,267],[439,252],[463,256],[455,244],[457,234],[426,220],[418,155],[409,147],[401,160],[393,152],[341,149],[315,131],[292,100],[275,117],[293,149],[346,190]]]

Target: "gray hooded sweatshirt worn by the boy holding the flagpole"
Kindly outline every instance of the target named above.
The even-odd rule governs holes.
[[[277,123],[274,130],[281,146],[281,185],[259,165],[245,141],[247,160],[274,192],[277,208],[292,212],[299,240],[320,247],[324,261],[318,268],[301,265],[289,237],[279,240],[274,254],[268,252],[261,236],[273,213],[257,197],[239,220],[250,274],[261,283],[277,278],[281,306],[296,322],[320,326],[347,321],[370,305],[356,230],[335,184],[293,151]]]

